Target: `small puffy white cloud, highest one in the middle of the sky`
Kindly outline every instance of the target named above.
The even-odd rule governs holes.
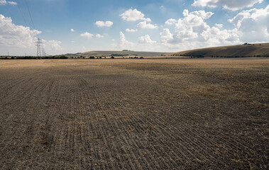
[[[143,20],[143,21],[148,21],[151,22],[150,18],[145,18],[145,14],[141,13],[141,11],[138,11],[136,8],[135,9],[128,9],[124,13],[121,13],[121,18],[124,21],[138,21],[138,20]]]

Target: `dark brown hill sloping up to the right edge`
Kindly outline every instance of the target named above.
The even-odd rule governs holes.
[[[175,52],[171,55],[190,57],[269,57],[269,43],[209,47]]]

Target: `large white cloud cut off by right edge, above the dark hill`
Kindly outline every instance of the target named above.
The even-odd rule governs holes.
[[[269,41],[269,5],[265,8],[241,11],[229,22],[241,31],[243,42]]]

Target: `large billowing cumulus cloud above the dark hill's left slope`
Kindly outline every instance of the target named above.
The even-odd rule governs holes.
[[[222,29],[221,24],[213,27],[207,25],[206,20],[212,15],[212,12],[184,10],[184,18],[179,18],[176,22],[170,19],[175,26],[175,32],[171,33],[168,28],[164,28],[160,33],[160,41],[167,47],[180,45],[184,50],[239,43],[239,31],[236,28],[226,30]]]

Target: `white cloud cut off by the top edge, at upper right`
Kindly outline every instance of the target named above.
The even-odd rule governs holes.
[[[242,8],[251,7],[254,4],[262,3],[263,0],[194,0],[193,6],[208,6],[216,8],[223,6],[226,9],[236,11]]]

